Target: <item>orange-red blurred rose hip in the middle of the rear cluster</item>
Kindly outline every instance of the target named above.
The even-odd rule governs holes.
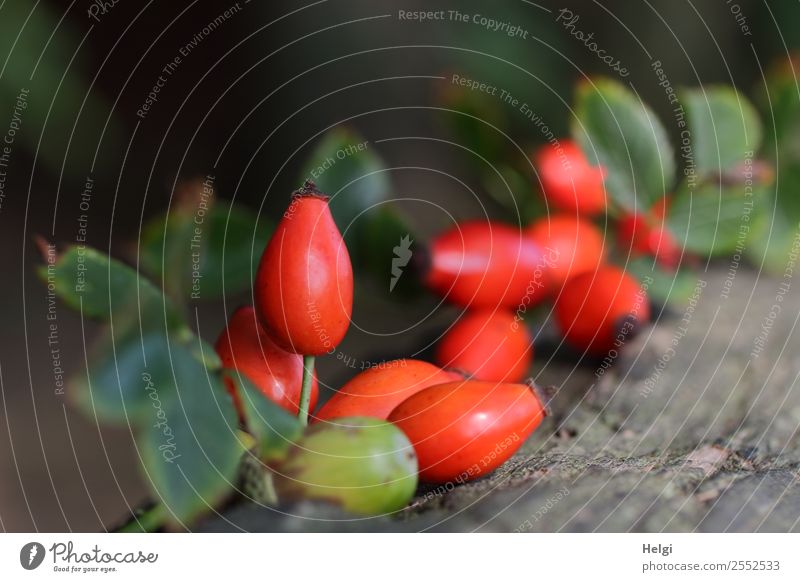
[[[586,219],[567,214],[540,218],[527,234],[547,259],[543,281],[550,295],[558,294],[570,278],[595,271],[605,260],[603,233]]]

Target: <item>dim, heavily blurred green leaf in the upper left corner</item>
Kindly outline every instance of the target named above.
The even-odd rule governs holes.
[[[5,0],[0,6],[0,103],[9,116],[4,118],[10,118],[21,94],[28,95],[16,141],[54,174],[84,179],[92,167],[112,167],[109,159],[128,136],[112,102],[91,88],[81,70],[84,59],[76,59],[85,27],[77,30],[75,19],[63,19],[53,3]],[[84,46],[80,54],[86,52]],[[106,147],[98,149],[101,137]]]

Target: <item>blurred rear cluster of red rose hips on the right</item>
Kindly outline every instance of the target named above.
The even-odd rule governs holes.
[[[468,310],[439,342],[437,363],[473,378],[526,377],[533,340],[522,320],[545,301],[554,303],[567,343],[593,356],[619,346],[637,321],[649,318],[645,289],[606,262],[608,245],[591,220],[606,211],[603,169],[569,141],[541,148],[534,162],[551,214],[523,229],[461,223],[430,248],[428,286]],[[649,255],[665,267],[679,262],[680,247],[664,227],[664,204],[623,214],[617,237],[632,256]]]

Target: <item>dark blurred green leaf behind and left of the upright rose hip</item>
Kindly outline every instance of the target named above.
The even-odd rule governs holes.
[[[216,299],[249,289],[274,226],[223,200],[202,215],[197,208],[178,204],[169,217],[145,227],[142,269],[162,280],[173,297]]]

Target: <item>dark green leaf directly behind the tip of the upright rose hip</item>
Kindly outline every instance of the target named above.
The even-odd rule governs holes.
[[[374,145],[342,127],[329,131],[314,148],[301,181],[305,180],[331,197],[331,213],[347,243],[358,237],[358,225],[365,214],[392,191]]]

